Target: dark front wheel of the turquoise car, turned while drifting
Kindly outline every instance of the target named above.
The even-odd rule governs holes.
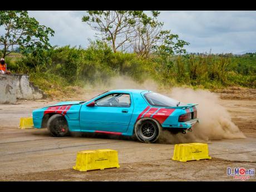
[[[52,115],[47,122],[48,130],[54,137],[65,137],[70,134],[65,117],[60,114]]]

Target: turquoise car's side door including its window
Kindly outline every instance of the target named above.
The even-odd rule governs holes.
[[[81,107],[81,131],[126,132],[133,109],[130,93],[110,93],[97,99],[93,107]]]

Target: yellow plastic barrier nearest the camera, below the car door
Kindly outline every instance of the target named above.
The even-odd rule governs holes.
[[[96,169],[120,168],[117,151],[111,149],[79,151],[73,169],[88,171]]]

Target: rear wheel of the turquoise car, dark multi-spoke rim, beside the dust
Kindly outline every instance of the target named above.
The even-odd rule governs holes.
[[[139,141],[153,143],[159,139],[161,125],[151,118],[140,119],[136,122],[134,132]]]

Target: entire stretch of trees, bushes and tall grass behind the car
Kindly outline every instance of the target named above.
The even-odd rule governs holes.
[[[0,55],[6,57],[8,70],[28,73],[51,96],[71,94],[72,87],[88,83],[105,85],[119,75],[137,82],[151,79],[164,86],[255,88],[256,53],[188,55],[184,47],[189,43],[162,30],[159,14],[87,11],[82,21],[100,32],[102,39],[90,41],[84,49],[52,47],[48,36],[54,31],[29,17],[27,11],[0,11],[0,26],[5,29]],[[134,53],[124,52],[130,46]]]

